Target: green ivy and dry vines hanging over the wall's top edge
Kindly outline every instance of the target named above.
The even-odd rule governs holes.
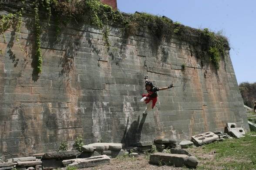
[[[189,42],[191,49],[196,54],[195,56],[205,62],[212,62],[216,69],[219,69],[219,61],[221,57],[224,57],[225,49],[229,49],[227,39],[224,36],[209,32],[209,29],[192,29],[178,22],[173,22],[167,17],[155,16],[148,13],[123,14],[101,3],[99,0],[35,0],[34,3],[29,3],[29,0],[26,1],[34,9],[34,29],[36,35],[36,51],[34,55],[35,74],[39,74],[42,71],[40,36],[43,29],[50,26],[51,20],[54,20],[57,24],[63,23],[64,25],[73,21],[94,26],[102,30],[105,46],[107,47],[111,46],[108,40],[110,26],[119,27],[123,32],[124,38],[136,35],[138,30],[148,30],[148,33],[152,35],[152,44],[155,49],[158,49],[158,46],[163,40],[169,41],[175,36],[176,39]],[[25,2],[25,0],[22,2]],[[19,20],[17,27],[20,27],[23,7],[18,11]],[[10,26],[10,20],[13,19],[14,15],[0,16],[1,34]],[[44,25],[43,23],[47,24]],[[60,26],[56,26],[56,33],[57,36],[61,33]],[[205,46],[203,48],[204,53],[200,52],[202,49],[199,46],[202,45]],[[209,59],[205,60],[207,57]]]

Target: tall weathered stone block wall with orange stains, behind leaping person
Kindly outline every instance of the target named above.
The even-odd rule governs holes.
[[[2,11],[2,13],[4,13]],[[127,146],[156,137],[190,139],[224,130],[226,122],[248,129],[236,76],[226,51],[218,72],[201,65],[178,37],[159,46],[138,32],[123,39],[111,28],[111,46],[89,26],[54,23],[42,33],[42,73],[33,75],[33,16],[23,18],[21,33],[10,27],[0,36],[0,156],[28,156],[84,143],[121,142]],[[18,46],[20,41],[21,49]],[[185,66],[185,69],[183,67]],[[143,76],[158,87],[157,107],[142,115]]]

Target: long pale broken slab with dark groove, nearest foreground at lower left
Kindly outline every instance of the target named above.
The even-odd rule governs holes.
[[[72,160],[63,160],[62,163],[64,166],[76,167],[76,168],[86,168],[86,167],[95,167],[103,163],[109,163],[110,157],[107,155],[101,155],[90,158],[77,158]]]

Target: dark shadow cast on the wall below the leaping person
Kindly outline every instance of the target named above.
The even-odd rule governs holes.
[[[147,114],[143,114],[143,117],[140,121],[140,116],[138,116],[137,121],[133,121],[129,126],[129,118],[125,127],[125,132],[123,135],[123,138],[121,140],[122,144],[125,144],[126,147],[131,146],[134,143],[137,143],[141,139],[141,130],[143,127],[143,124],[145,123]]]

